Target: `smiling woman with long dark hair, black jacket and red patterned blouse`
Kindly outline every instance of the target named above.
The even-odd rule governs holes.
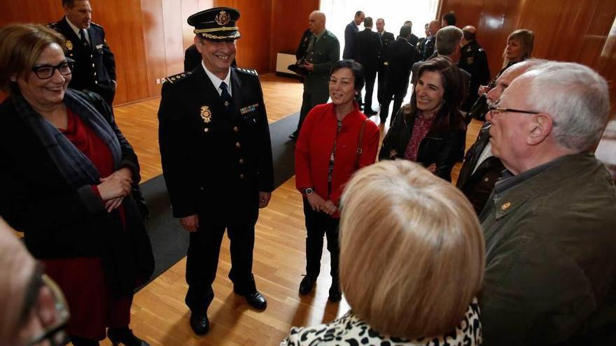
[[[407,159],[451,181],[464,155],[466,126],[459,107],[463,88],[458,67],[435,57],[419,69],[411,103],[402,106],[383,139],[379,160]]]

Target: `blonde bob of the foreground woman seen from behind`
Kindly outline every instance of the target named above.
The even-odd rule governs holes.
[[[344,190],[340,283],[353,312],[379,333],[453,331],[481,288],[484,257],[468,200],[418,164],[381,161]]]

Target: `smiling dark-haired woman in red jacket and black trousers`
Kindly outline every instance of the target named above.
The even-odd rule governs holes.
[[[295,185],[304,197],[306,276],[300,294],[309,294],[321,268],[323,236],[331,257],[329,300],[340,301],[338,280],[339,199],[344,184],[359,168],[374,164],[379,128],[359,111],[355,96],[363,87],[363,68],[353,60],[332,66],[331,103],[308,113],[295,147]]]

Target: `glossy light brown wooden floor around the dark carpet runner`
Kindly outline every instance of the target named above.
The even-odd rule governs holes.
[[[261,76],[270,122],[300,109],[302,84],[275,75]],[[152,99],[115,108],[116,120],[139,155],[144,180],[162,173],[158,154],[158,103]],[[378,117],[372,117],[378,122]],[[467,143],[475,140],[479,123],[473,122]],[[381,127],[381,130],[385,130]],[[459,165],[458,165],[459,166]],[[456,168],[454,176],[457,177]],[[278,345],[290,326],[330,322],[344,314],[349,305],[328,303],[330,286],[329,255],[323,250],[321,276],[316,291],[299,296],[297,289],[304,274],[305,229],[302,201],[290,178],[272,194],[268,208],[261,210],[255,231],[253,273],[268,307],[258,312],[232,291],[229,242],[221,249],[214,292],[208,315],[211,329],[197,337],[188,325],[190,313],[184,304],[188,289],[184,279],[186,259],[163,273],[139,291],[132,305],[131,328],[151,345]],[[110,345],[105,340],[102,345]]]

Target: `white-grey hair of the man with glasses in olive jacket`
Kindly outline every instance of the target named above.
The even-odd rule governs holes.
[[[610,113],[608,83],[601,75],[573,62],[540,64],[526,75],[531,77],[526,101],[552,117],[559,145],[583,152],[598,143]]]

